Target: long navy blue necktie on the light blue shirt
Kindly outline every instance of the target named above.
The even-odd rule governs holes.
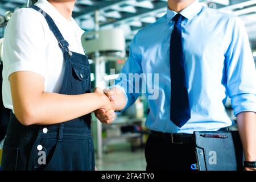
[[[187,81],[184,69],[184,55],[181,42],[181,22],[183,16],[176,14],[174,30],[170,42],[170,71],[171,71],[171,110],[170,119],[176,126],[182,127],[191,118],[188,101]]]

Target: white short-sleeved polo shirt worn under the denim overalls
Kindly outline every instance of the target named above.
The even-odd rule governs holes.
[[[84,31],[75,20],[67,20],[47,0],[36,6],[46,11],[56,23],[73,52],[84,54],[81,36]],[[63,53],[46,19],[34,9],[22,8],[13,14],[3,42],[3,105],[13,110],[9,76],[17,71],[29,71],[44,78],[45,92],[59,92],[64,74]]]

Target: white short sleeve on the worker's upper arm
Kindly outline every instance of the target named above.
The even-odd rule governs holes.
[[[47,38],[44,17],[33,9],[15,11],[7,24],[3,42],[6,76],[29,71],[45,77]]]

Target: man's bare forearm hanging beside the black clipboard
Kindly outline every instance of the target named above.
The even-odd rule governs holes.
[[[237,115],[237,126],[246,161],[256,160],[256,114],[242,112]]]

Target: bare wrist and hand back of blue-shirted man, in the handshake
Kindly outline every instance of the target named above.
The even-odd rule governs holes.
[[[122,90],[118,88],[111,89],[114,96],[115,110],[122,110],[126,106],[126,97]]]

